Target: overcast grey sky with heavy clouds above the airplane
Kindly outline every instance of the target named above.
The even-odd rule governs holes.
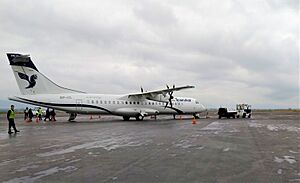
[[[299,108],[298,0],[1,0],[0,99],[20,94],[6,52],[56,83],[126,94],[177,86],[207,107]]]

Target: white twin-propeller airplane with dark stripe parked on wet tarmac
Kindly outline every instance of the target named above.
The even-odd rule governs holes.
[[[174,97],[174,91],[194,86],[169,87],[155,91],[141,91],[124,95],[89,94],[57,85],[36,68],[29,55],[7,53],[22,95],[9,100],[42,107],[49,107],[70,114],[74,121],[77,114],[117,115],[124,121],[134,117],[141,121],[146,116],[188,114],[197,117],[205,107],[196,99]]]

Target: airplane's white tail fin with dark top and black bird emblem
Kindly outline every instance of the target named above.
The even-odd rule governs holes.
[[[61,87],[39,72],[29,55],[7,53],[22,95],[84,93]]]

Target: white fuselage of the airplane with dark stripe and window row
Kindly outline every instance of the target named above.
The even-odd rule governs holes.
[[[10,97],[11,100],[50,107],[69,113],[112,114],[119,116],[144,116],[156,114],[197,114],[204,106],[193,98],[174,97],[172,107],[166,102],[148,99],[124,98],[124,95],[106,94],[37,94]]]

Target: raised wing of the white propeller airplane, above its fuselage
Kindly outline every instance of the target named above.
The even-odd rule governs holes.
[[[189,89],[189,88],[195,88],[195,86],[189,86],[189,85],[180,86],[180,87],[173,86],[173,88],[169,88],[167,86],[167,89],[163,89],[163,90],[155,90],[155,91],[149,91],[149,92],[146,91],[146,92],[128,94],[127,98],[154,98],[159,94],[162,94],[163,96],[166,96],[170,92]]]

